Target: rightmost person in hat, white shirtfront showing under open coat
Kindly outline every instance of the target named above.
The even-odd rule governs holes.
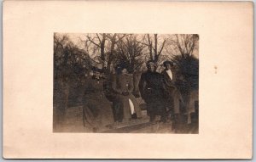
[[[177,73],[174,69],[174,65],[171,61],[164,62],[165,70],[161,72],[164,81],[164,87],[166,91],[165,103],[166,107],[172,111],[174,115],[174,120],[177,121],[178,115],[180,114],[180,103],[183,103],[183,97],[181,92],[176,86],[177,82]]]

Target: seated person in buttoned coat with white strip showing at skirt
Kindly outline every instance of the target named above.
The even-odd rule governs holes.
[[[116,75],[113,81],[113,92],[117,94],[117,101],[121,105],[122,113],[119,114],[119,120],[131,120],[132,118],[141,118],[142,111],[137,103],[137,99],[133,96],[133,77],[127,73],[124,65],[116,68]],[[119,107],[120,109],[120,107]]]

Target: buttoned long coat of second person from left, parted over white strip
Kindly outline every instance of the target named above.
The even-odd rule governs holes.
[[[117,99],[122,104],[123,107],[123,119],[131,119],[131,109],[129,104],[129,99],[134,105],[134,110],[138,118],[142,117],[142,111],[137,103],[137,99],[133,96],[133,78],[128,74],[116,75],[113,80],[113,91],[117,93]],[[124,96],[123,92],[129,92],[129,95]]]

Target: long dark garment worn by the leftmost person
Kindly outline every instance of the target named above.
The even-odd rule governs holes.
[[[102,131],[106,126],[113,124],[111,103],[105,97],[104,81],[91,78],[84,86],[84,126],[90,126]]]

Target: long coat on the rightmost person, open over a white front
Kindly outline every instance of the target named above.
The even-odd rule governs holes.
[[[166,91],[165,103],[166,106],[172,108],[175,114],[180,113],[179,101],[183,102],[182,95],[176,87],[177,75],[172,71],[172,79],[167,74],[166,70],[161,73],[164,81],[164,88]]]

